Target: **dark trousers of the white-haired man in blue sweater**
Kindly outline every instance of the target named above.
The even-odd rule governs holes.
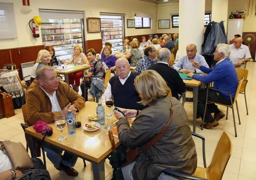
[[[207,89],[201,89],[198,93],[198,104],[197,104],[197,115],[199,115],[203,119],[203,113],[206,103],[206,93]],[[217,91],[209,89],[208,91],[208,101],[221,103],[224,105],[230,105],[230,100],[224,99],[221,94]],[[218,109],[217,105],[214,103],[208,104],[206,107],[206,115],[205,115],[205,122],[213,122],[214,118],[211,113],[219,114],[220,110]]]

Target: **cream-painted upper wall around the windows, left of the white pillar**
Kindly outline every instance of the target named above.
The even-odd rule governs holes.
[[[100,12],[125,14],[125,25],[127,18],[134,18],[135,12],[152,14],[151,29],[125,28],[125,36],[156,33],[156,9],[157,5],[138,0],[30,0],[33,10],[29,14],[21,11],[22,0],[0,0],[0,2],[14,3],[18,42],[20,47],[42,45],[41,36],[33,38],[28,22],[33,16],[39,15],[39,9],[62,9],[85,11],[85,39],[101,39],[101,33],[87,33],[86,18],[99,17]],[[40,33],[41,34],[41,33]],[[16,39],[0,40],[0,49],[16,48]]]

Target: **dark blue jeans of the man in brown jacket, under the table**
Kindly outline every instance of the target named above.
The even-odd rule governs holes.
[[[46,156],[53,163],[55,168],[59,168],[61,162],[66,166],[73,167],[78,159],[78,156],[71,155],[67,152],[64,152],[64,155],[62,155],[61,149],[55,148],[49,144],[45,145],[44,150],[46,151]]]

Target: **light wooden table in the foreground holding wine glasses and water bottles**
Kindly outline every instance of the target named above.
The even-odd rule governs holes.
[[[91,113],[96,113],[97,103],[87,101],[85,106],[80,109],[79,115],[81,116],[82,126],[88,121],[88,115]],[[105,125],[107,124],[107,118]],[[113,123],[117,121],[115,116],[110,119],[110,125],[114,127]],[[76,134],[70,135],[68,133],[68,128],[65,126],[63,129],[63,135],[67,137],[66,141],[59,142],[57,139],[60,136],[60,131],[57,130],[54,123],[48,124],[53,128],[53,135],[45,138],[45,143],[49,143],[52,146],[65,150],[71,154],[78,155],[82,159],[85,159],[92,164],[94,180],[105,180],[105,169],[104,160],[111,154],[112,146],[108,138],[108,130],[104,129],[103,125],[99,130],[94,132],[87,132],[83,128],[76,129]],[[37,133],[33,127],[25,129],[27,133],[28,140],[31,144],[31,157],[36,157],[36,152],[34,150],[34,139],[43,139],[41,133]],[[118,147],[120,141],[118,138],[114,137],[115,145]]]

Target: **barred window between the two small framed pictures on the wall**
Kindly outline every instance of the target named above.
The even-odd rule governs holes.
[[[112,43],[114,51],[119,50],[123,46],[124,25],[122,14],[101,14],[101,39],[102,46],[105,42]]]

